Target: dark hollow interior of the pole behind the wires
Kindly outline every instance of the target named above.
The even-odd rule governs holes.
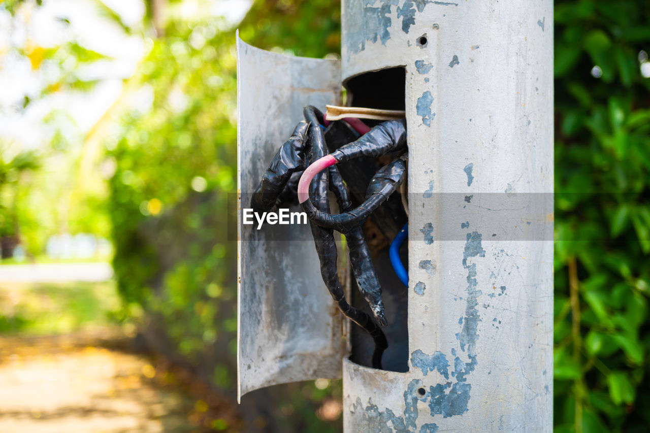
[[[348,101],[353,107],[385,110],[404,110],[406,107],[406,69],[403,67],[357,75],[346,81],[344,86],[348,90]],[[364,122],[369,126],[380,123],[380,121],[367,120]],[[385,163],[387,161],[375,161],[377,165]],[[343,166],[341,168],[343,169]],[[374,168],[371,170],[374,172]],[[367,183],[362,188],[365,187]],[[382,285],[382,298],[388,321],[387,326],[382,328],[388,340],[388,348],[383,352],[382,368],[398,372],[408,371],[408,288],[404,287],[395,274],[388,251],[391,242],[407,221],[400,195],[395,193],[368,218],[363,226],[374,269]],[[404,243],[400,256],[406,266],[408,244]],[[354,278],[351,280],[352,305],[370,314],[370,308],[357,290]],[[359,326],[352,326],[350,332],[352,334],[350,360],[370,367],[374,350],[372,338]]]

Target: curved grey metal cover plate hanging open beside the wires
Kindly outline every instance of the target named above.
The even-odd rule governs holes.
[[[270,53],[237,37],[238,396],[340,378],[342,319],[322,283],[309,225],[242,224],[242,208],[305,105],[339,103],[339,60]],[[301,209],[292,208],[291,211]]]

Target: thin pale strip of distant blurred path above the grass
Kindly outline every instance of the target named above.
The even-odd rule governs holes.
[[[42,263],[38,265],[2,265],[0,283],[103,282],[113,270],[109,263]]]

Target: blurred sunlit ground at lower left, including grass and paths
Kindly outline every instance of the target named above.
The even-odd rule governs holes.
[[[0,266],[0,433],[240,430],[233,402],[140,350],[135,326],[116,321],[112,280],[80,281],[102,276],[97,265]]]

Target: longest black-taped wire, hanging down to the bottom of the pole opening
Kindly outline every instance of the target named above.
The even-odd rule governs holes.
[[[317,116],[317,111],[313,107],[305,107],[305,118],[310,121],[309,130],[307,133],[307,140],[309,142],[309,163],[313,163],[320,157],[326,154],[325,142],[320,129],[320,122],[311,123],[313,117]],[[321,117],[322,118],[322,117]],[[330,202],[328,200],[328,172],[323,170],[314,176],[310,189],[310,195],[315,200],[315,207],[322,212],[329,213]],[[377,324],[370,319],[370,316],[363,311],[356,309],[345,299],[345,293],[341,282],[339,281],[339,274],[336,268],[337,250],[334,241],[333,231],[318,226],[310,221],[311,233],[314,238],[314,244],[320,259],[320,274],[323,282],[330,291],[330,295],[336,302],[337,306],[350,320],[361,326],[366,332],[372,336],[374,341],[374,353],[372,355],[372,367],[382,368],[382,354],[388,347],[388,342],[382,330]]]

